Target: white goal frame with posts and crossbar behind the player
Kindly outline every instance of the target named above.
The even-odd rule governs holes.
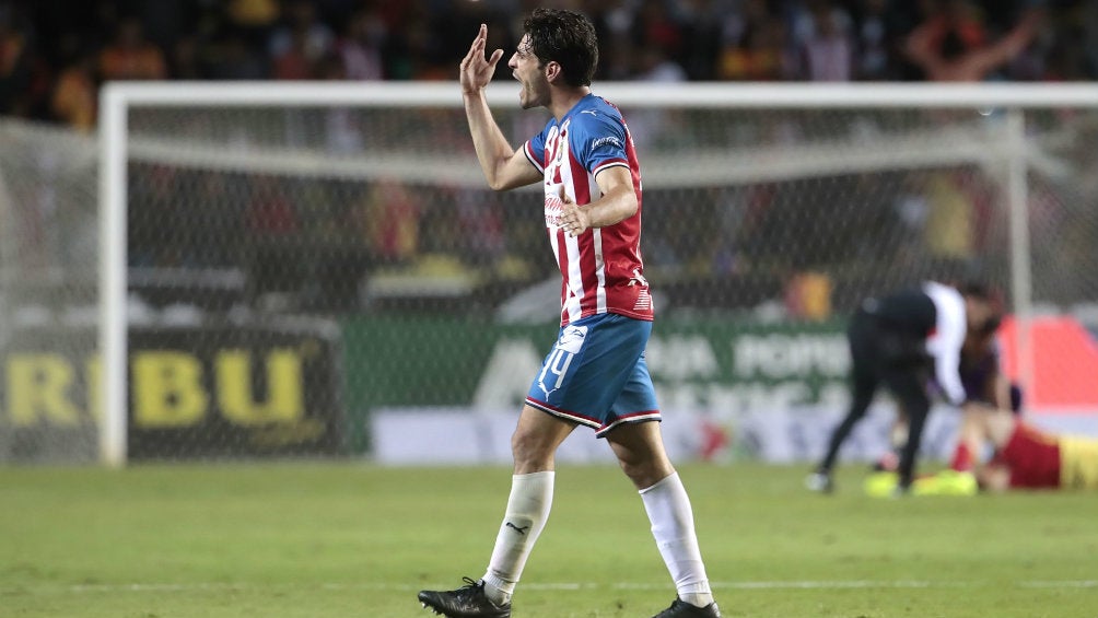
[[[1030,148],[1026,109],[1098,108],[1098,86],[1024,83],[601,83],[594,89],[628,108],[690,109],[994,109],[1006,113],[1000,148],[961,155],[959,161],[998,161],[1007,170],[1010,277],[1018,319],[1018,358],[1023,386],[1031,382],[1032,319],[1030,238],[1026,172]],[[492,106],[517,104],[517,86],[493,83]],[[126,162],[127,115],[132,108],[239,106],[453,106],[461,104],[456,82],[111,82],[100,92],[100,323],[103,363],[100,458],[110,467],[126,462]],[[976,159],[975,157],[978,157]]]

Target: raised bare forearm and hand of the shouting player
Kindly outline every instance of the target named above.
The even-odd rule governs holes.
[[[507,143],[500,125],[492,117],[484,97],[484,88],[492,81],[495,66],[503,57],[503,49],[484,57],[488,26],[481,24],[480,32],[461,60],[461,93],[466,103],[466,117],[473,136],[477,159],[488,184],[496,191],[530,184],[541,179],[541,172],[526,158],[522,148],[515,149]]]

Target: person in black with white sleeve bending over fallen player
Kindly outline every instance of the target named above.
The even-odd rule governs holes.
[[[907,493],[930,412],[931,374],[951,404],[963,405],[967,397],[960,363],[965,334],[985,328],[994,315],[990,296],[979,285],[959,290],[928,281],[917,289],[862,301],[847,330],[851,352],[850,408],[831,434],[827,453],[806,485],[813,491],[832,491],[831,470],[839,448],[865,416],[877,387],[884,384],[908,419],[896,486],[898,493]]]

